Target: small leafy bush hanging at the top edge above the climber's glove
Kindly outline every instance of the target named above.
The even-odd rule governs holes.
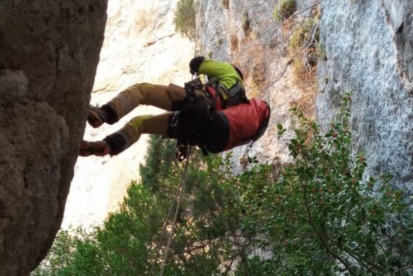
[[[187,36],[190,40],[195,40],[197,36],[196,15],[198,1],[195,0],[179,0],[174,17],[174,25],[176,32],[183,36]]]

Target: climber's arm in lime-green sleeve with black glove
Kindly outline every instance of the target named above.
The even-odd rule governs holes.
[[[205,60],[204,57],[194,57],[189,64],[191,73],[205,74],[208,78],[218,78],[225,88],[230,89],[237,81],[243,84],[241,76],[228,62]]]

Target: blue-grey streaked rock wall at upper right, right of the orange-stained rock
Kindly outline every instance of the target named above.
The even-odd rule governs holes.
[[[353,153],[365,151],[368,174],[391,173],[412,192],[413,3],[322,1],[316,114],[325,128],[344,92],[353,91]]]

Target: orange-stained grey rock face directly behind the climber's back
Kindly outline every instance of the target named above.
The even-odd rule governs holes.
[[[276,124],[293,129],[294,120],[289,109],[296,104],[308,106],[308,113],[314,114],[314,91],[316,88],[302,88],[293,81],[291,55],[288,54],[288,38],[291,32],[302,24],[317,8],[315,1],[297,0],[298,15],[281,27],[274,20],[274,8],[279,1],[201,1],[204,10],[202,32],[202,55],[217,60],[232,62],[244,72],[244,83],[248,97],[259,97],[271,106],[271,117],[265,134],[253,145],[249,156],[261,162],[288,163],[291,157],[287,142],[293,132],[287,132],[285,139],[277,139]],[[313,8],[309,8],[309,7]],[[205,7],[205,8],[203,8]],[[233,169],[241,172],[248,164],[247,146],[232,151]]]

